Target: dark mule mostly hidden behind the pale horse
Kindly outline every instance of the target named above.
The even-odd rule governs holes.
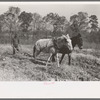
[[[83,48],[83,40],[82,40],[81,34],[78,34],[77,36],[72,37],[71,41],[72,41],[73,49],[76,45],[79,47],[79,49]],[[68,58],[69,58],[68,64],[70,65],[70,63],[71,63],[71,52],[72,52],[72,50],[69,50],[67,46],[63,46],[62,48],[60,48],[59,53],[61,53],[62,56],[61,56],[59,63],[61,64],[65,54],[68,54]],[[55,59],[54,55],[52,55],[52,59],[53,60]]]

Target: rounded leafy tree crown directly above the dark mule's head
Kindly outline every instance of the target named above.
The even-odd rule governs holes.
[[[89,18],[86,12],[78,12],[70,17],[70,27],[74,34],[81,33],[82,31],[88,31]]]

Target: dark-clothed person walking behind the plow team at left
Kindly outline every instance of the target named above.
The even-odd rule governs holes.
[[[13,47],[13,54],[15,54],[16,51],[19,52],[19,38],[17,34],[14,34],[14,36],[12,37],[11,44]]]

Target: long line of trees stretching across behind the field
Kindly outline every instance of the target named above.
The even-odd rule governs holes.
[[[21,11],[19,7],[9,7],[0,15],[0,40],[8,39],[8,43],[14,33],[18,34],[23,41],[29,41],[30,38],[34,41],[61,34],[69,34],[73,37],[80,33],[85,41],[100,42],[97,16],[89,16],[87,12],[82,11],[70,16],[68,21],[65,16],[53,12],[41,16],[37,12],[26,12]],[[3,39],[3,36],[6,39]]]

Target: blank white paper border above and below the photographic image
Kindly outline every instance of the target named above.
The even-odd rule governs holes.
[[[0,4],[21,4],[23,2],[0,2]],[[32,2],[26,2],[32,4]],[[100,2],[34,2],[38,4],[97,4]],[[100,98],[100,82],[0,82],[0,98]]]

